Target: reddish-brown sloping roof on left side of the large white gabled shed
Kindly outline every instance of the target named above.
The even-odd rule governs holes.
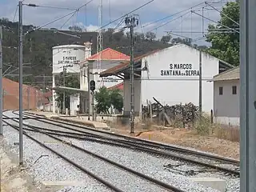
[[[137,58],[134,58],[134,64],[135,64],[136,62],[141,61],[142,58],[145,58],[146,56],[149,56],[150,54],[155,54],[155,53],[157,53],[158,51],[159,51],[159,50],[153,50],[153,51],[150,51],[150,52],[147,53],[147,54],[142,54],[141,56],[138,56]],[[101,76],[101,77],[107,77],[107,76],[116,74],[116,73],[118,73],[119,71],[126,69],[126,67],[128,67],[129,65],[130,65],[130,61],[121,62],[121,64],[118,65],[118,66],[114,66],[114,67],[111,67],[111,68],[108,69],[108,70],[104,70],[104,71],[100,74],[100,76]]]

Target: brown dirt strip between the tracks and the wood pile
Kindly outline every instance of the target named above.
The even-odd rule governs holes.
[[[134,129],[136,130],[136,129]],[[122,127],[122,129],[113,129],[117,134],[130,135],[130,129]],[[239,143],[230,142],[210,136],[200,136],[194,134],[191,130],[186,129],[168,129],[168,130],[137,130],[134,131],[134,137],[149,139],[156,142],[166,142],[179,146],[191,147],[214,154],[219,154],[228,158],[239,159]]]

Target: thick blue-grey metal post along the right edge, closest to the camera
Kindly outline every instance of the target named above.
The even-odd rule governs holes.
[[[256,189],[256,25],[254,0],[240,1],[240,191]]]

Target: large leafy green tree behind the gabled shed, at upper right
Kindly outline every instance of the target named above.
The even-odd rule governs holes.
[[[206,36],[206,41],[210,42],[211,46],[207,52],[237,66],[239,64],[239,33],[234,30],[239,31],[238,1],[226,3],[226,6],[222,8],[221,19],[218,23],[216,26],[208,26],[210,33]],[[218,32],[220,30],[223,32]]]

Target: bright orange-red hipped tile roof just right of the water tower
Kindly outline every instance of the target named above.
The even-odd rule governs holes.
[[[105,50],[102,50],[102,60],[123,60],[127,61],[130,59],[130,57],[126,54],[122,54],[118,52],[117,50],[112,50],[111,48],[106,48]],[[98,60],[99,54],[94,54],[90,58],[87,58],[87,61],[95,61]]]

